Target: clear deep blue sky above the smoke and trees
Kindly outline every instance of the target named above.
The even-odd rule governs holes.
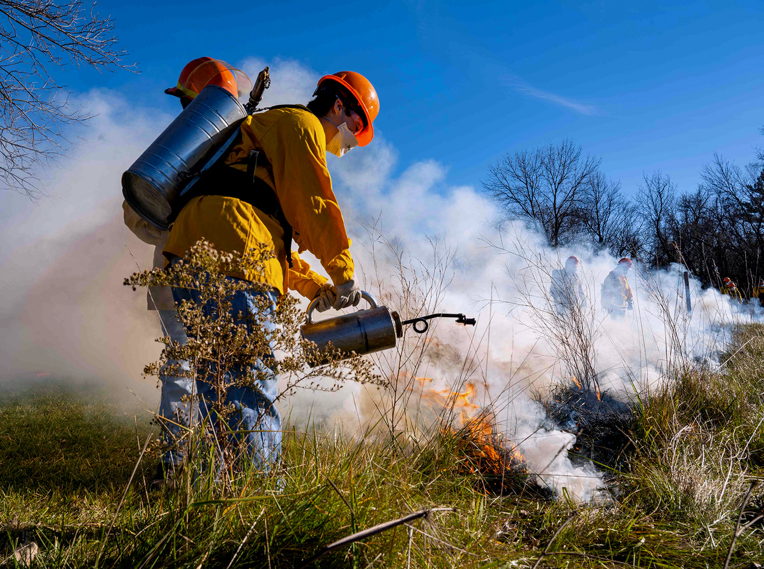
[[[397,168],[438,160],[480,186],[507,150],[570,137],[633,192],[660,168],[691,190],[714,151],[764,138],[762,2],[113,2],[99,11],[140,74],[67,70],[73,92],[115,89],[176,112],[162,91],[209,55],[355,70],[380,95]],[[374,153],[374,144],[355,150]]]

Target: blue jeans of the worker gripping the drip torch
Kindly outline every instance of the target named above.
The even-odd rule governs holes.
[[[225,278],[237,280],[231,276]],[[272,331],[275,329],[275,325],[270,322],[267,315],[276,310],[278,293],[275,291],[236,291],[231,299],[231,315],[238,318],[241,313],[246,315],[257,312],[255,299],[258,296],[265,297],[270,301],[270,308],[265,314],[266,318],[263,318],[260,325]],[[193,289],[173,287],[173,299],[175,302],[188,300],[197,304],[200,303],[199,292]],[[214,310],[208,303],[204,306],[203,312],[210,316]],[[251,318],[247,318],[247,325],[248,330],[252,331],[253,322]],[[270,353],[268,359],[269,364],[275,362],[273,352]],[[226,373],[225,379],[233,383],[237,377],[244,374],[243,371],[241,369],[230,370]],[[281,415],[274,405],[274,400],[278,394],[278,375],[262,360],[258,360],[257,364],[251,366],[251,371],[252,373],[265,372],[265,377],[254,380],[253,386],[228,389],[225,403],[234,407],[234,412],[228,420],[228,428],[236,432],[234,435],[230,435],[231,442],[236,441],[238,444],[244,445],[253,466],[260,470],[270,470],[270,467],[280,460],[281,455]],[[199,419],[204,420],[209,417],[213,428],[217,430],[217,416],[211,405],[217,400],[215,390],[206,381],[196,380],[196,393],[199,396]]]

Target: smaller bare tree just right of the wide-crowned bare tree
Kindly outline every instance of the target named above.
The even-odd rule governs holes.
[[[617,256],[637,257],[641,249],[641,217],[637,207],[621,193],[620,182],[594,171],[584,183],[580,225],[600,247]]]

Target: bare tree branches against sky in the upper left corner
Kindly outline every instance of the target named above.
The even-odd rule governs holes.
[[[56,71],[124,69],[114,27],[83,0],[0,0],[0,186],[42,194],[44,168],[72,147],[65,125],[92,118]]]

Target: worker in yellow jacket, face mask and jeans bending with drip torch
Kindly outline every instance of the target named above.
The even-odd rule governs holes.
[[[318,298],[319,311],[357,306],[361,299],[326,153],[341,157],[369,144],[379,100],[371,82],[351,71],[322,77],[314,95],[306,106],[280,105],[248,116],[238,144],[189,191],[164,245],[170,263],[201,238],[226,252],[248,251],[258,244],[270,247],[275,257],[266,261],[264,273],[228,275],[270,286],[262,293],[239,291],[232,302],[234,313],[251,309],[254,295],[266,296],[274,310],[278,296],[290,289]],[[298,251],[292,251],[292,241]],[[332,284],[299,258],[302,251],[319,259]],[[175,302],[197,301],[197,296],[193,289],[173,288]],[[197,390],[204,415],[209,386],[199,382]],[[232,430],[246,432],[242,442],[253,464],[267,470],[280,456],[277,375],[231,393],[228,403],[241,409]]]

